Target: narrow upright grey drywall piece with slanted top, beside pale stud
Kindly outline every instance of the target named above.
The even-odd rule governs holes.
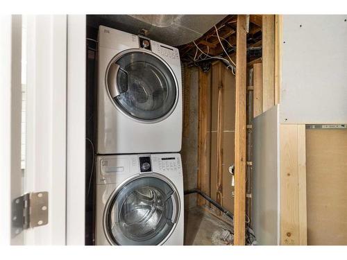
[[[253,119],[252,223],[260,245],[279,244],[278,105]]]

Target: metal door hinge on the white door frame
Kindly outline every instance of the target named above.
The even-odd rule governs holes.
[[[12,237],[48,223],[48,192],[26,193],[12,201]]]

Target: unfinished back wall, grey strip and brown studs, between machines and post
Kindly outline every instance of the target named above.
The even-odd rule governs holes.
[[[235,76],[221,63],[208,72],[185,69],[183,178],[185,190],[198,187],[228,211],[234,211],[232,175],[235,157]],[[196,194],[185,196],[185,209],[208,206]]]

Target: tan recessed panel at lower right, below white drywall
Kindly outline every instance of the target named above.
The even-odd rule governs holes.
[[[347,129],[306,130],[307,243],[347,245]]]

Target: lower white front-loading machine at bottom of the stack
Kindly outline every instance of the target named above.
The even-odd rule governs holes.
[[[178,153],[96,160],[96,245],[183,245]]]

